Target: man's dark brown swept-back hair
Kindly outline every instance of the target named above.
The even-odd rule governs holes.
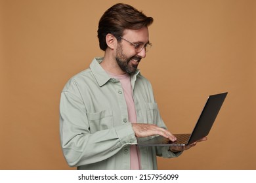
[[[111,33],[119,41],[125,29],[141,29],[153,23],[153,18],[130,5],[118,3],[110,7],[98,22],[98,41],[101,50],[106,50],[106,35]]]

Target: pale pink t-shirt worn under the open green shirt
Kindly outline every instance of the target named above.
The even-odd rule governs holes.
[[[125,95],[125,101],[128,110],[128,118],[129,122],[137,123],[137,116],[135,110],[135,104],[133,101],[133,89],[131,87],[131,77],[129,74],[125,75],[114,75],[112,73],[108,73],[112,78],[116,78],[121,82],[123,92]],[[136,145],[131,145],[131,170],[139,170],[140,169],[140,158],[139,158],[139,149]]]

